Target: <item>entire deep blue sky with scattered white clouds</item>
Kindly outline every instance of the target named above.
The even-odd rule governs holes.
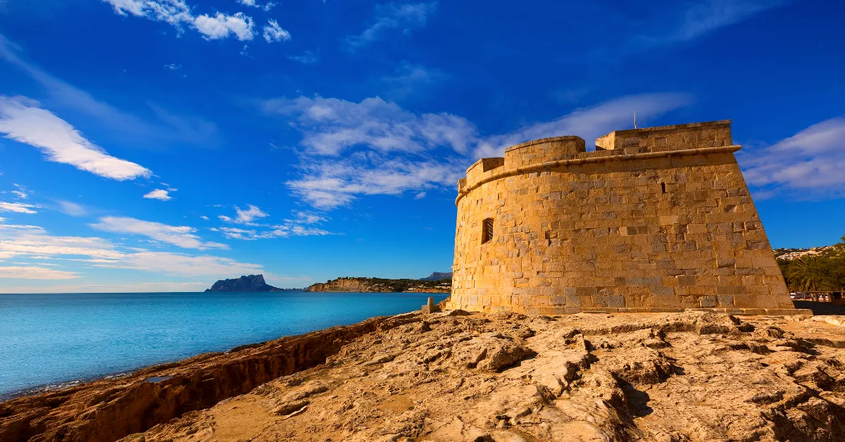
[[[733,119],[775,247],[845,234],[845,6],[0,0],[0,292],[448,271],[507,145]]]

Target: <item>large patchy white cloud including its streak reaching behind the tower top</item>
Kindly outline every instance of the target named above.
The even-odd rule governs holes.
[[[686,94],[631,95],[488,137],[480,136],[466,118],[417,114],[379,97],[360,103],[319,96],[282,98],[263,106],[265,112],[294,117],[293,127],[303,134],[302,175],[287,181],[288,188],[313,207],[332,209],[357,195],[451,188],[466,166],[479,157],[503,156],[509,145],[572,134],[591,142],[630,128],[635,110],[647,121],[691,102]],[[338,156],[345,150],[355,151]]]

